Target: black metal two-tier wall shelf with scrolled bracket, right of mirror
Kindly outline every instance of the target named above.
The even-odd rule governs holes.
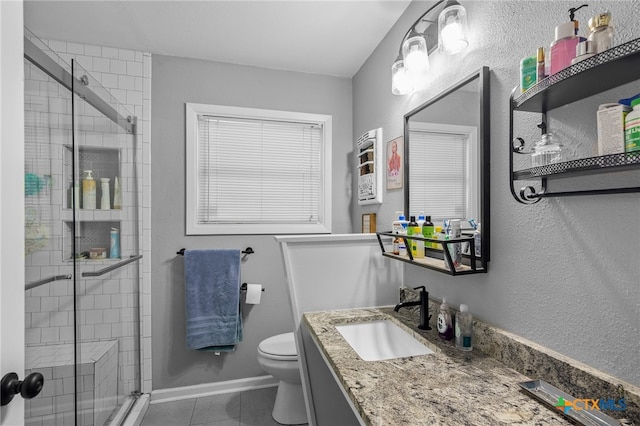
[[[640,170],[640,152],[594,156],[514,170],[514,154],[534,152],[525,149],[525,141],[522,138],[514,138],[515,112],[542,114],[542,123],[538,127],[544,134],[547,112],[639,79],[640,39],[635,39],[548,76],[520,96],[516,97],[519,87],[515,87],[509,102],[509,178],[511,193],[516,201],[533,204],[544,197],[640,192],[640,186],[574,188],[555,192],[549,191],[547,187],[547,180],[551,179]],[[540,189],[524,186],[519,191],[516,190],[516,182],[526,180],[539,180]]]

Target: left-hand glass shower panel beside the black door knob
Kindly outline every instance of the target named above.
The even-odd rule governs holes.
[[[27,52],[29,53],[27,55]],[[38,56],[40,55],[40,56]],[[63,255],[62,221],[71,217],[62,168],[71,146],[71,92],[44,63],[70,66],[25,34],[25,372],[40,372],[44,387],[25,400],[25,424],[74,424],[73,259]]]

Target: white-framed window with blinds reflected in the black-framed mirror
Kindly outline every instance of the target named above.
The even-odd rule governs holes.
[[[409,198],[411,214],[431,221],[478,219],[480,178],[478,129],[431,123],[411,124]]]

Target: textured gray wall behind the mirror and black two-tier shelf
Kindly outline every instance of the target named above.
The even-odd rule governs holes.
[[[426,285],[435,298],[446,297],[454,306],[467,303],[489,323],[640,385],[640,195],[551,198],[523,206],[509,191],[509,94],[518,84],[519,61],[537,47],[549,46],[554,27],[568,19],[566,11],[576,3],[463,2],[470,48],[457,56],[432,55],[429,87],[394,96],[391,64],[402,36],[431,4],[412,3],[354,77],[354,136],[379,126],[385,140],[400,136],[406,112],[480,66],[489,66],[491,262],[487,274],[458,278],[407,265],[405,284]],[[618,43],[640,37],[638,1],[590,1],[577,15],[581,31],[589,17],[605,9],[613,14]],[[636,82],[623,94],[638,92]],[[589,151],[596,136],[588,122],[595,120],[597,104],[620,97],[619,92],[600,97],[601,102],[589,108],[565,107],[551,117],[550,131],[564,138],[568,151],[583,144],[589,146],[582,151]],[[535,126],[534,120],[529,124]],[[539,137],[535,127],[519,128],[527,140]],[[640,174],[627,178],[637,186]],[[378,229],[390,229],[393,213],[402,206],[402,190],[387,191],[381,207],[352,208],[354,227],[362,213],[376,212]]]

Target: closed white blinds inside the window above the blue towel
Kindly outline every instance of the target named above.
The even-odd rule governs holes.
[[[318,223],[322,126],[198,117],[198,223]]]

